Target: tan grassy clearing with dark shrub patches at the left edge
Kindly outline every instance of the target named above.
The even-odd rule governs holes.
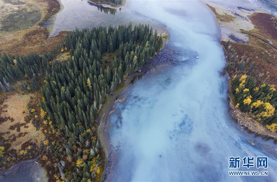
[[[45,136],[38,117],[38,92],[0,93],[0,143],[4,147],[0,168],[7,169],[21,160],[39,155],[38,146]]]

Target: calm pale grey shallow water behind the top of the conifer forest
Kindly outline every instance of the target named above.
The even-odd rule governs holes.
[[[117,9],[115,14],[104,13],[97,6],[87,0],[61,0],[63,9],[54,15],[44,25],[50,30],[50,37],[58,35],[63,30],[73,30],[75,27],[92,28],[95,26],[118,26],[143,23],[151,24],[159,32],[165,31],[165,26],[158,20],[140,14],[134,9],[129,8],[129,2],[121,9]]]

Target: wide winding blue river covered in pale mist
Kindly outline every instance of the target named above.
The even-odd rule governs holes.
[[[225,57],[207,6],[131,1],[129,8],[168,27],[166,49],[179,64],[155,69],[120,96],[108,131],[117,158],[106,181],[276,181],[276,145],[240,131],[229,116]],[[230,156],[268,156],[269,176],[229,176]]]

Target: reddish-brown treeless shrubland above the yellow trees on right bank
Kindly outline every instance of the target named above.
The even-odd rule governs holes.
[[[242,33],[249,36],[249,44],[232,42],[232,47],[239,56],[249,58],[249,62],[256,63],[255,75],[260,80],[266,80],[277,85],[277,30],[274,16],[265,13],[254,13],[249,16],[255,29]],[[225,47],[226,48],[226,47]]]

